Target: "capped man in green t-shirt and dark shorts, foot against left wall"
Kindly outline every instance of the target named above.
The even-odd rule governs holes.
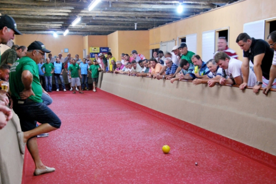
[[[60,118],[49,109],[41,99],[46,91],[39,81],[37,65],[44,58],[47,50],[42,42],[32,42],[28,47],[26,57],[15,62],[10,70],[10,92],[14,100],[14,111],[20,120],[22,131],[17,132],[21,154],[25,153],[25,145],[35,164],[34,175],[55,171],[46,167],[39,156],[37,135],[56,130],[61,127]],[[47,93],[46,93],[47,94]],[[36,127],[36,122],[42,125]]]

